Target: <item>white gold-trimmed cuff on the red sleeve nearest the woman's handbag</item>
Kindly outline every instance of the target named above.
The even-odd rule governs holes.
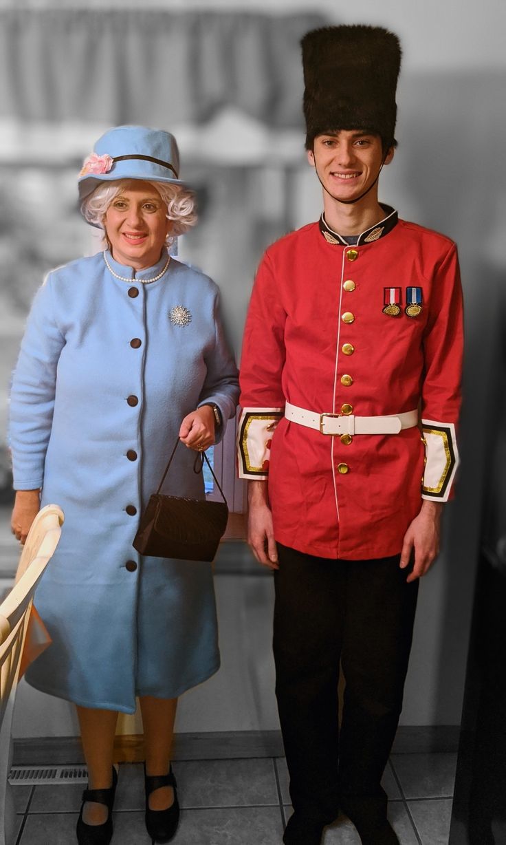
[[[270,441],[283,413],[283,408],[242,409],[237,437],[239,478],[267,478]]]

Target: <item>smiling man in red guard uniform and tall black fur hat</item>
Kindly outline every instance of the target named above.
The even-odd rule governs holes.
[[[319,845],[342,810],[363,845],[391,845],[380,781],[418,579],[438,554],[458,462],[459,268],[448,237],[378,203],[394,155],[397,37],[314,30],[302,61],[324,213],[260,264],[239,467],[250,479],[248,540],[275,570],[276,695],[295,811],[284,842]]]

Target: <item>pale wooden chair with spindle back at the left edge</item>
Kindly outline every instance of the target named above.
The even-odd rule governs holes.
[[[15,812],[8,772],[12,758],[14,698],[24,639],[35,588],[57,548],[62,525],[63,511],[56,504],[47,504],[36,515],[19,559],[14,587],[0,604],[0,845],[14,842]]]

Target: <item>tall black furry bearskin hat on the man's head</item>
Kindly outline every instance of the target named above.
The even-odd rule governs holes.
[[[380,26],[326,26],[302,38],[306,147],[338,129],[379,134],[395,144],[397,35]]]

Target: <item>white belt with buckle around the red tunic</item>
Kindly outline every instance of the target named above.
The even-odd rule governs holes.
[[[291,423],[316,428],[322,434],[398,434],[402,428],[418,424],[418,411],[388,414],[385,417],[356,417],[354,414],[318,414],[286,402],[285,417]]]

